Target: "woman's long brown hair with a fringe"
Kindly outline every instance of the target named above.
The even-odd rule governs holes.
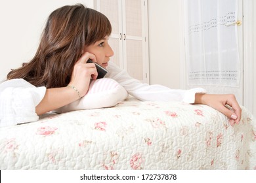
[[[104,14],[81,4],[58,8],[47,20],[34,58],[12,70],[7,79],[24,78],[47,88],[67,86],[85,46],[109,36],[111,29]]]

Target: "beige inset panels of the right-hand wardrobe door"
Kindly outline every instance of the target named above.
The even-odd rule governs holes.
[[[123,3],[123,64],[129,75],[143,80],[142,1],[126,0]]]

